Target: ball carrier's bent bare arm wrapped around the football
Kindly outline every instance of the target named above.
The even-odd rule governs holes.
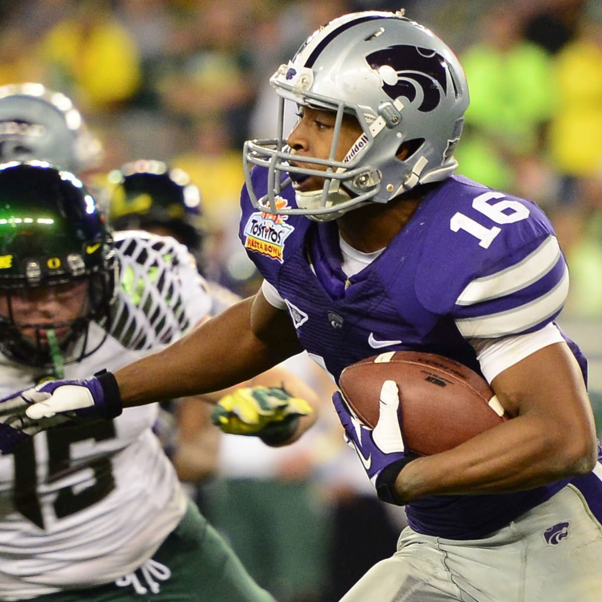
[[[588,474],[597,439],[588,394],[565,343],[544,347],[491,383],[511,419],[399,473],[399,503],[426,495],[530,489]]]

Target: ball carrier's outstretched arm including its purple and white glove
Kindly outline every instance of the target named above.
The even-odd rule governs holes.
[[[32,420],[113,418],[123,407],[208,393],[247,380],[302,348],[288,314],[261,291],[154,355],[85,380],[54,380],[20,394]]]

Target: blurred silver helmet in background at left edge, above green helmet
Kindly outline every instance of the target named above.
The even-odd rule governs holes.
[[[67,96],[36,83],[0,86],[0,162],[48,161],[79,173],[102,156],[101,141]]]

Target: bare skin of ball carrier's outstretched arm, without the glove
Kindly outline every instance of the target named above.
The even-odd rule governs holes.
[[[182,337],[161,352],[117,370],[124,407],[216,391],[258,374],[287,356],[249,328],[252,299]]]

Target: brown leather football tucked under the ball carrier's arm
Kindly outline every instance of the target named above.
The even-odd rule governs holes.
[[[480,374],[440,355],[398,351],[363,359],[341,373],[344,399],[370,428],[379,419],[385,380],[397,383],[403,434],[418,455],[444,452],[508,420]]]

